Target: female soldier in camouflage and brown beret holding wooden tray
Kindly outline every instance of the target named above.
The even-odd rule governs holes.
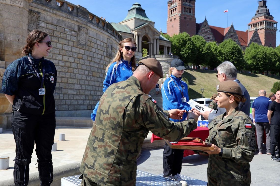
[[[217,91],[218,106],[226,108],[226,112],[208,125],[206,142],[214,147],[214,151],[205,151],[210,154],[208,185],[250,185],[249,162],[256,151],[255,125],[239,111],[238,104],[245,98],[236,82],[221,82]]]

